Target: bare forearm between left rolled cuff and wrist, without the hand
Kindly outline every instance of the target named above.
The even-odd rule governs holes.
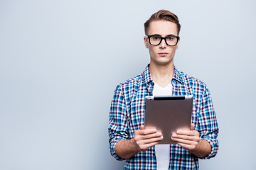
[[[134,145],[134,139],[120,140],[114,147],[116,154],[122,159],[129,159],[139,152],[136,145]]]

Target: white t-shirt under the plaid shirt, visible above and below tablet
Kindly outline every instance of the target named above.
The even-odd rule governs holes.
[[[171,82],[166,87],[161,87],[154,83],[153,96],[171,96],[172,86]],[[170,145],[169,144],[159,144],[155,145],[156,151],[156,169],[166,170],[169,169],[170,162]]]

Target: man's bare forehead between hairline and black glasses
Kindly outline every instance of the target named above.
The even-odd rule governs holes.
[[[151,21],[148,29],[149,35],[178,35],[176,23],[171,21]]]

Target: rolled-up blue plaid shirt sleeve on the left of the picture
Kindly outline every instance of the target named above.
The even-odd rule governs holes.
[[[119,142],[119,140],[128,140],[129,134],[127,132],[128,125],[127,117],[127,105],[124,100],[124,94],[120,86],[114,91],[114,97],[112,99],[110,107],[110,128],[109,132],[109,142],[110,142],[110,154],[117,160],[124,160],[119,157],[114,151],[114,147]]]

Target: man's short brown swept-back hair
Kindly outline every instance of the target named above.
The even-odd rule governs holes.
[[[144,29],[145,29],[145,35],[147,35],[149,24],[151,21],[170,21],[172,23],[176,23],[176,26],[178,28],[178,34],[181,30],[181,24],[178,22],[178,16],[176,16],[174,13],[171,13],[167,10],[160,10],[153,15],[144,23]]]

